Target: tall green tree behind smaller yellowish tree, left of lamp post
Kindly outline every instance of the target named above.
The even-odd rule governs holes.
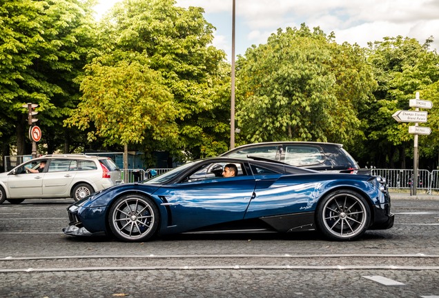
[[[168,111],[168,121],[175,121],[177,128],[164,137],[144,132],[144,138],[139,141],[146,152],[167,150],[178,156],[184,151],[190,157],[201,157],[216,155],[228,148],[228,116],[224,115],[229,113],[224,112],[228,109],[224,98],[230,98],[226,97],[226,86],[230,85],[227,85],[225,54],[209,46],[213,40],[213,26],[206,22],[203,12],[202,8],[179,8],[173,0],[126,0],[117,3],[100,24],[101,54],[97,61],[107,61],[111,56],[113,64],[107,63],[107,66],[119,67],[118,63],[131,61],[129,57],[144,57],[141,63],[159,73],[163,78],[160,82],[173,95],[173,110]],[[127,55],[111,54],[115,51]],[[95,75],[95,72],[89,74]],[[121,90],[115,94],[121,94],[122,86],[119,88]],[[130,88],[142,88],[142,84],[130,84]],[[99,97],[91,92],[90,98]],[[83,100],[79,114],[91,103],[86,97]],[[113,100],[116,106],[117,98],[113,97]],[[113,105],[109,97],[107,104]],[[88,121],[95,120],[88,118]],[[72,118],[70,124],[78,121],[79,117]],[[101,137],[121,137],[117,131],[101,134],[104,130],[99,129],[99,123],[94,125]],[[128,131],[134,131],[133,128],[126,127]],[[112,140],[115,143],[126,141]]]

